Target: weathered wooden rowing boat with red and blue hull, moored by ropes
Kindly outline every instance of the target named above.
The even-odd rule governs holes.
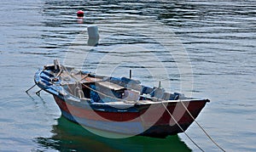
[[[61,115],[86,128],[165,138],[186,129],[209,99],[167,93],[127,77],[97,76],[60,65],[44,65],[34,81],[53,95]]]

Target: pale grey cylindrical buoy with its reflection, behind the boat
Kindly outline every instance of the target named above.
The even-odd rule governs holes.
[[[87,44],[89,46],[96,46],[100,39],[98,27],[96,25],[91,25],[87,27],[87,32],[89,37]]]

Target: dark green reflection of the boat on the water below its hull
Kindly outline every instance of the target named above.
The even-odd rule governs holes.
[[[135,136],[131,138],[102,138],[63,116],[53,125],[49,138],[35,138],[38,150],[55,149],[59,151],[191,151],[177,135],[167,138],[148,138]]]

